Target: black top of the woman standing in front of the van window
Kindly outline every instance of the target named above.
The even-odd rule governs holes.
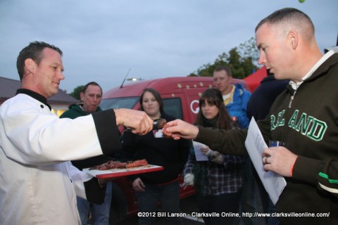
[[[161,117],[167,122],[175,120],[174,117],[165,114],[162,114]],[[123,135],[123,153],[125,159],[146,159],[151,165],[164,167],[163,170],[158,172],[130,176],[131,179],[134,180],[140,177],[142,181],[151,184],[162,184],[176,179],[182,173],[189,155],[189,141],[155,138],[153,131],[144,136],[125,131]]]

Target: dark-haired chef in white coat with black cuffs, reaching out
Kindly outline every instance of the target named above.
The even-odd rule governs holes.
[[[152,129],[142,111],[106,110],[75,120],[51,113],[46,99],[65,78],[61,56],[56,46],[39,41],[18,56],[21,89],[0,107],[1,224],[80,224],[76,195],[103,200],[105,188],[69,160],[122,148],[117,125],[135,134]]]

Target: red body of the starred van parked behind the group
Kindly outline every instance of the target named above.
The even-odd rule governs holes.
[[[249,86],[244,80],[232,80],[232,84],[237,83],[243,84],[244,87],[249,90]],[[126,97],[139,98],[145,88],[153,88],[161,94],[165,113],[193,124],[196,120],[197,113],[199,113],[199,98],[206,89],[211,87],[213,87],[213,77],[167,77],[124,84],[122,87],[115,87],[114,89],[106,91],[102,96],[102,99],[108,100],[109,98]],[[134,105],[133,109],[139,110],[138,102]],[[122,127],[120,127],[120,131],[123,131]],[[180,182],[183,182],[182,176],[180,176]],[[127,177],[120,177],[119,179],[116,179],[114,183],[117,184],[117,188],[120,188],[121,191],[123,191],[125,195],[121,196],[125,199],[125,204],[123,205],[127,205],[127,209],[125,209],[126,214],[120,213],[117,218],[120,219],[136,214],[138,211],[137,199],[134,195],[134,190],[131,188],[130,180],[127,179]],[[194,194],[194,188],[192,186],[181,188],[180,198],[185,198],[192,194]],[[118,203],[112,201],[112,205],[113,204]],[[121,205],[121,207],[123,207],[123,205]],[[111,207],[111,211],[115,208],[116,207]]]

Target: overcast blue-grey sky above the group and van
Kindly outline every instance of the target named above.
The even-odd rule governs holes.
[[[182,77],[254,37],[273,11],[310,16],[320,49],[336,45],[337,0],[0,0],[0,77],[19,79],[30,41],[63,51],[61,89],[96,81],[105,91],[130,77]]]

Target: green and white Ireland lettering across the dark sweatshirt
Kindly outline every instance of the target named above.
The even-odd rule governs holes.
[[[282,112],[277,114],[277,118],[275,115],[270,116],[271,130],[285,125],[284,113],[285,110],[282,110]],[[314,141],[322,140],[327,129],[326,122],[318,120],[306,113],[299,115],[299,110],[294,110],[294,114],[290,117],[289,122],[287,122],[287,126]]]

